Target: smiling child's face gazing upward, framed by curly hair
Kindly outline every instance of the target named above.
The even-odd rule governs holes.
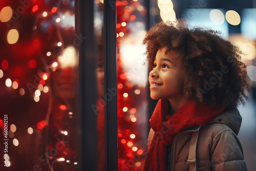
[[[157,51],[154,68],[150,72],[150,90],[152,99],[175,99],[183,95],[184,69],[178,51],[171,50],[165,55],[167,47]],[[154,84],[157,82],[157,84]]]

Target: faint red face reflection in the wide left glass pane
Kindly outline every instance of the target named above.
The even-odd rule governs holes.
[[[75,72],[73,67],[58,68],[52,73],[53,93],[62,99],[71,99],[75,96]]]

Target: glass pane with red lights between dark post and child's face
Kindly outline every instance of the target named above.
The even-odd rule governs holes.
[[[118,170],[143,170],[148,93],[145,1],[117,1]]]

